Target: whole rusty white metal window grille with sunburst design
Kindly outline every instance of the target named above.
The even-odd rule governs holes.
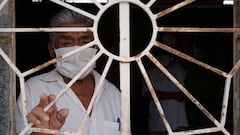
[[[81,31],[88,31],[91,30],[94,33],[94,41],[86,44],[85,46],[82,46],[76,50],[73,50],[71,52],[68,52],[63,55],[61,59],[64,59],[74,53],[77,53],[87,47],[93,46],[95,44],[98,45],[100,48],[100,51],[96,54],[96,56],[87,64],[85,68],[83,68],[68,84],[67,86],[57,95],[57,98],[52,101],[44,110],[48,110],[61,96],[68,90],[68,88],[71,87],[71,85],[77,80],[78,76],[80,76],[85,70],[95,61],[99,59],[100,56],[103,54],[108,56],[108,61],[105,66],[105,69],[102,73],[102,77],[100,82],[96,86],[96,92],[94,93],[92,100],[90,102],[90,105],[87,109],[87,114],[85,116],[85,119],[82,121],[81,127],[79,127],[78,132],[71,132],[71,131],[58,131],[58,130],[50,130],[50,129],[40,129],[40,128],[32,128],[31,124],[27,124],[27,120],[25,118],[25,129],[20,133],[21,135],[26,133],[27,131],[31,132],[44,132],[44,133],[58,133],[58,134],[81,134],[82,129],[88,120],[88,116],[92,110],[93,103],[96,99],[97,94],[99,93],[100,87],[102,85],[103,80],[105,79],[109,68],[111,66],[111,63],[113,60],[119,61],[120,63],[120,90],[121,90],[121,119],[122,119],[122,126],[121,126],[121,135],[130,135],[130,63],[133,61],[136,61],[141,73],[144,77],[145,82],[147,83],[147,86],[149,88],[149,91],[154,99],[154,102],[157,106],[157,109],[159,111],[159,114],[161,118],[163,119],[163,122],[167,128],[167,131],[171,135],[177,135],[177,134],[202,134],[202,133],[211,133],[211,132],[218,132],[221,131],[224,134],[228,135],[230,134],[226,129],[225,129],[225,121],[226,121],[226,114],[227,114],[227,107],[228,107],[228,99],[229,99],[229,90],[230,90],[230,84],[232,77],[237,73],[237,71],[240,68],[240,60],[237,62],[237,64],[232,68],[232,70],[229,73],[226,73],[224,71],[221,71],[220,69],[217,69],[213,66],[210,66],[208,64],[205,64],[187,54],[184,54],[176,49],[173,49],[171,47],[168,47],[165,44],[162,44],[156,40],[157,38],[157,33],[158,32],[226,32],[226,33],[233,33],[233,32],[240,32],[240,29],[238,28],[183,28],[183,27],[158,27],[156,20],[158,18],[161,18],[175,10],[178,10],[186,5],[191,4],[195,0],[184,0],[170,8],[167,8],[163,11],[160,11],[156,14],[154,14],[151,11],[151,6],[156,2],[156,0],[150,0],[148,3],[144,4],[140,0],[111,0],[106,4],[101,4],[95,0],[92,0],[93,3],[100,9],[99,12],[96,15],[93,15],[91,13],[88,13],[82,9],[76,8],[71,6],[70,4],[67,4],[61,0],[50,0],[53,3],[56,3],[58,5],[61,5],[63,7],[66,7],[68,9],[71,9],[75,12],[78,12],[79,14],[83,14],[91,19],[94,20],[94,26],[92,28],[0,28],[1,32],[64,32],[64,31],[74,31],[74,32],[81,32]],[[8,3],[8,0],[3,0],[0,4],[0,11],[5,7],[5,5]],[[119,4],[119,13],[120,13],[120,55],[117,56],[115,54],[112,54],[108,50],[104,48],[102,43],[100,42],[98,38],[98,33],[97,33],[97,28],[98,28],[98,22],[100,18],[102,17],[102,14],[111,6]],[[129,25],[130,25],[130,20],[129,20],[129,5],[134,4],[138,7],[140,7],[142,10],[144,10],[152,23],[153,27],[153,32],[152,32],[152,37],[151,40],[148,44],[148,46],[140,52],[138,55],[135,56],[130,56],[129,54]],[[1,13],[1,12],[0,12]],[[201,105],[201,103],[194,98],[186,88],[184,88],[175,78],[172,76],[168,70],[150,53],[150,49],[152,47],[158,47],[159,49],[168,51],[176,56],[179,56],[189,62],[195,63],[198,66],[202,68],[206,68],[207,70],[212,71],[213,73],[223,76],[226,78],[225,81],[225,88],[224,88],[224,95],[223,95],[223,101],[222,101],[222,110],[221,110],[221,119],[220,121],[216,120],[214,116],[208,112],[208,110]],[[23,97],[22,102],[23,102],[23,108],[24,108],[24,114],[27,114],[27,109],[26,109],[26,104],[25,101],[28,100],[25,97],[25,77],[35,73],[51,64],[56,63],[58,60],[61,60],[59,58],[52,59],[50,61],[47,61],[46,63],[43,63],[35,68],[32,68],[28,71],[21,72],[16,65],[9,59],[9,57],[5,54],[5,52],[0,48],[0,55],[3,57],[3,59],[9,64],[11,69],[14,70],[16,75],[19,77],[20,80],[20,87],[21,87],[21,96]],[[180,131],[180,132],[173,132],[171,129],[171,126],[169,125],[168,121],[165,118],[164,111],[160,105],[159,100],[157,99],[156,93],[154,92],[154,88],[151,84],[151,81],[146,73],[145,67],[142,64],[142,57],[147,56],[158,68],[161,70],[191,101],[194,103],[200,111],[205,114],[205,116],[215,125],[213,127],[208,127],[208,128],[202,128],[202,129],[193,129],[193,130],[188,130],[188,131]]]

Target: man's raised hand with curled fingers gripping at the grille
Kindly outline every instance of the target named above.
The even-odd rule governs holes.
[[[40,102],[35,106],[30,113],[27,114],[27,120],[33,124],[33,127],[48,128],[48,129],[60,129],[65,123],[65,119],[68,116],[69,110],[64,108],[58,110],[56,105],[53,105],[44,111],[44,108],[54,99],[56,96],[41,94]],[[41,135],[41,133],[33,133],[34,135]],[[46,134],[44,134],[46,135]]]

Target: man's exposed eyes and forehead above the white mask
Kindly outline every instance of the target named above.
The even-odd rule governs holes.
[[[67,24],[62,27],[88,27],[83,24]],[[93,33],[88,32],[60,32],[56,33],[55,47],[71,47],[71,46],[82,46],[93,40]]]

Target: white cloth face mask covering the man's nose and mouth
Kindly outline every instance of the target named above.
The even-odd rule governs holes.
[[[63,54],[72,51],[79,46],[64,47],[55,49],[56,57],[62,56]],[[94,57],[97,49],[86,48],[78,53],[73,54],[61,61],[56,63],[56,69],[62,75],[72,79],[87,63]],[[86,77],[95,68],[95,63],[93,63],[86,72],[84,72],[78,79],[81,80]]]

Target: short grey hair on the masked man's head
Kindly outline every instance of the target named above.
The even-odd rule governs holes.
[[[65,24],[85,24],[92,26],[93,20],[72,10],[63,9],[55,14],[50,21],[51,27],[59,27]],[[49,39],[54,43],[54,33],[49,33]]]

